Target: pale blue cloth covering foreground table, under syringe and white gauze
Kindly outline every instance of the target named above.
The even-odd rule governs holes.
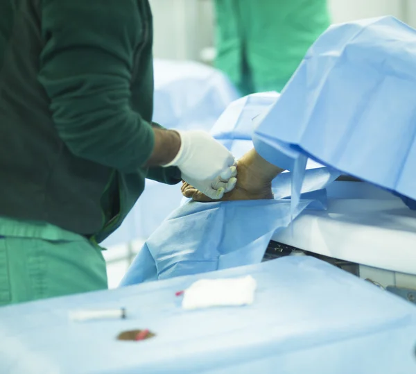
[[[193,312],[176,291],[252,275],[254,303]],[[125,307],[125,320],[73,323],[74,309]],[[146,341],[117,341],[149,329]],[[416,373],[416,309],[311,257],[0,308],[7,374]]]

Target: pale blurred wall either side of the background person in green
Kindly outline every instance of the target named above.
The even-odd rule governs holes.
[[[211,62],[215,53],[213,0],[150,0],[150,5],[156,58]],[[416,28],[415,0],[329,0],[329,10],[335,24],[393,15]]]

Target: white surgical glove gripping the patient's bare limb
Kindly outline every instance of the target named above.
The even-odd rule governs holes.
[[[201,130],[177,131],[181,145],[176,157],[164,165],[175,166],[182,179],[214,200],[236,185],[236,162],[223,144]]]

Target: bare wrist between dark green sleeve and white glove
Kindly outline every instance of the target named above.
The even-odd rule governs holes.
[[[157,167],[171,162],[180,149],[180,135],[174,130],[166,130],[153,126],[155,144],[146,167]]]

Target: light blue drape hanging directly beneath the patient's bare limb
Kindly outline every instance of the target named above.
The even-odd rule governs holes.
[[[257,264],[273,233],[289,223],[290,201],[189,202],[150,235],[121,286]]]

